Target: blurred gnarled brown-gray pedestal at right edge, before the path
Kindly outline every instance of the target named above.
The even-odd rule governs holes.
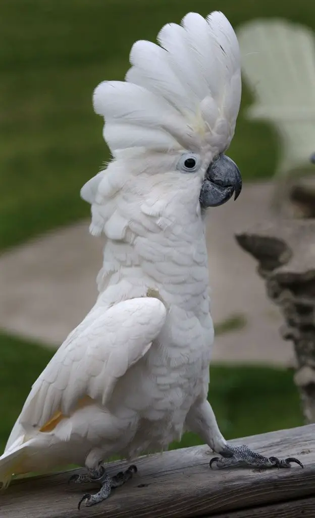
[[[258,260],[267,294],[281,309],[282,336],[294,344],[304,415],[315,423],[315,220],[264,223],[236,239]]]

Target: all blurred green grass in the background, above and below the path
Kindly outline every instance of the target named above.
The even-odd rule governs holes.
[[[57,226],[89,217],[79,196],[109,157],[92,93],[104,79],[122,79],[137,39],[154,40],[164,23],[188,11],[221,10],[232,25],[283,17],[315,28],[310,0],[2,0],[0,17],[0,251]],[[271,128],[242,116],[230,156],[245,180],[273,174]],[[0,336],[0,443],[51,351]],[[214,366],[211,401],[227,438],[302,424],[287,370]],[[182,445],[196,441],[185,436]]]

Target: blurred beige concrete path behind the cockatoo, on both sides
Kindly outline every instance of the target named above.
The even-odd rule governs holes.
[[[242,329],[217,337],[220,362],[291,364],[293,349],[279,335],[278,309],[267,299],[254,260],[238,247],[234,233],[270,218],[269,183],[245,184],[237,202],[209,210],[207,243],[216,323],[242,315]],[[102,238],[88,223],[18,247],[0,257],[0,327],[58,347],[94,304]]]

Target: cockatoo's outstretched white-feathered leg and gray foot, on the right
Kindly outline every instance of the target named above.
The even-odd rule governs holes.
[[[303,464],[295,457],[279,459],[265,457],[253,452],[246,445],[232,446],[222,436],[216,422],[214,412],[208,401],[204,400],[193,405],[187,415],[186,424],[191,431],[198,434],[221,457],[211,459],[210,467],[217,469],[231,466],[251,466],[256,468],[290,468],[296,463],[303,468]]]

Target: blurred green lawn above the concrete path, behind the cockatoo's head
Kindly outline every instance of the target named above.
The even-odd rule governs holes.
[[[109,157],[92,109],[103,79],[122,79],[136,39],[190,10],[234,27],[286,17],[315,27],[309,0],[3,0],[0,18],[0,250],[89,214],[83,183]],[[250,99],[246,91],[242,107]],[[269,127],[241,116],[230,154],[245,179],[272,174]]]

